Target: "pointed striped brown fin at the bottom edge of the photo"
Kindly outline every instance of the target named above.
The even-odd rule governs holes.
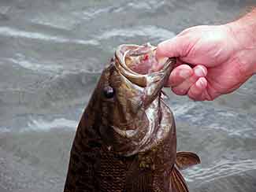
[[[171,185],[173,192],[189,192],[185,179],[181,175],[180,171],[176,168],[176,166],[173,167],[173,172],[171,175]]]

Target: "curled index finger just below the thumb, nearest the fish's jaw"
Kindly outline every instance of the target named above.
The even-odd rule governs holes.
[[[169,76],[167,87],[176,87],[193,75],[193,69],[189,65],[179,65],[173,69]]]

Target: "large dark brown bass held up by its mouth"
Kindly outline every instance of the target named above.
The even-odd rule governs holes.
[[[173,112],[162,98],[176,58],[158,61],[155,52],[150,43],[117,47],[76,129],[64,192],[188,191],[180,169],[200,158],[176,151]]]

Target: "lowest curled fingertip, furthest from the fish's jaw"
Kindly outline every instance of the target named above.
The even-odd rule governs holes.
[[[200,77],[188,90],[187,96],[195,101],[205,100],[203,92],[206,90],[207,80]]]

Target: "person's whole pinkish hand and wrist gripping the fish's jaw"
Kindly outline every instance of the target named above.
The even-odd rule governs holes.
[[[157,58],[176,57],[167,87],[196,101],[239,88],[256,72],[256,9],[234,22],[195,26],[161,42]],[[154,65],[158,70],[161,66]]]

